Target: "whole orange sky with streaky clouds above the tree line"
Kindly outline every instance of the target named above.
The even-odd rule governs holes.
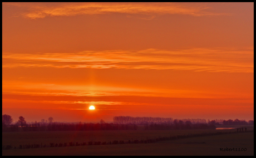
[[[253,120],[253,16],[248,2],[2,3],[2,114]]]

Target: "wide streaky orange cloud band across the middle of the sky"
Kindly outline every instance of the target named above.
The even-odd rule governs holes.
[[[173,69],[253,73],[253,48],[106,50],[78,53],[3,53],[2,67]]]

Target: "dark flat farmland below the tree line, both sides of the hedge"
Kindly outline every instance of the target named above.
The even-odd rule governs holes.
[[[248,128],[253,130],[253,128]],[[188,135],[232,130],[123,130],[123,131],[54,131],[3,132],[2,145],[46,144],[50,142],[86,142],[114,140],[143,140],[157,137]],[[2,155],[254,155],[254,132],[240,132],[214,136],[190,137],[158,141],[151,144],[116,144],[36,149],[2,150]],[[220,148],[246,148],[247,151],[220,151]]]

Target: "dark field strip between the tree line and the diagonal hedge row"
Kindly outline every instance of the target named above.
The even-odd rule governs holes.
[[[2,145],[18,147],[23,144],[49,145],[50,143],[86,142],[88,141],[114,141],[114,140],[146,140],[157,137],[169,137],[187,134],[200,134],[203,132],[224,132],[233,130],[105,130],[105,131],[35,131],[35,132],[3,132]]]

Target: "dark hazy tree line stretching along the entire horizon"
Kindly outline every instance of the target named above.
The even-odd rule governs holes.
[[[151,117],[131,117],[115,116],[114,123],[58,123],[53,122],[53,118],[48,121],[42,119],[41,122],[27,123],[23,116],[13,124],[13,119],[9,115],[2,115],[2,131],[85,131],[85,130],[137,130],[141,126],[145,130],[175,130],[175,129],[216,129],[216,125],[221,125],[219,120],[205,119],[173,119],[173,118],[151,118]],[[222,125],[254,125],[253,120],[221,120]]]

